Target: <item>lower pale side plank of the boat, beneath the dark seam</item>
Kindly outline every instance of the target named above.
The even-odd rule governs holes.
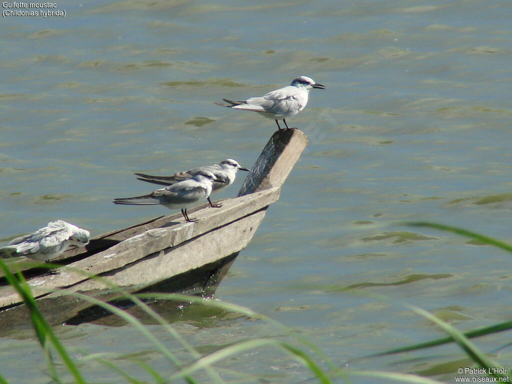
[[[104,278],[123,289],[134,291],[147,285],[154,285],[169,276],[177,276],[203,265],[221,261],[247,246],[265,217],[265,213],[265,210],[260,210],[216,231],[204,233],[197,239],[150,254],[136,263],[119,268],[114,274]],[[233,238],[237,241],[233,242]],[[194,257],[191,257],[192,255]],[[65,322],[79,311],[91,306],[88,302],[78,301],[73,296],[63,295],[60,292],[49,293],[46,288],[46,286],[39,286],[32,289],[39,297],[37,300],[39,309],[52,325]],[[88,295],[103,301],[119,296],[117,292],[108,289],[97,280],[82,281],[68,289],[88,292]],[[45,295],[40,296],[41,292]],[[2,313],[0,330],[13,325],[29,324],[29,322],[30,315],[25,306],[16,306]]]

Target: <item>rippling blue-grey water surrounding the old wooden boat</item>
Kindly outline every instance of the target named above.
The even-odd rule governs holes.
[[[313,90],[288,123],[310,144],[217,297],[300,329],[340,366],[446,382],[462,364],[453,346],[353,360],[443,333],[398,304],[341,290],[415,304],[461,330],[509,319],[508,254],[397,224],[428,220],[512,240],[509,2],[57,6],[65,18],[10,16],[0,25],[0,239],[55,219],[97,235],[167,214],[112,199],[150,191],[134,172],[170,174],[227,157],[252,166],[275,124],[214,102],[260,96],[307,75],[328,88]],[[240,184],[219,197],[235,196]],[[174,324],[203,352],[279,334],[197,308]],[[78,360],[115,351],[172,372],[129,326],[58,333]],[[507,365],[510,348],[500,347],[508,336],[478,345]],[[10,382],[49,380],[32,337],[16,330],[0,340],[0,373]],[[87,367],[91,381],[122,382],[103,366]],[[250,376],[228,376],[233,382],[309,377],[271,350],[221,367]]]

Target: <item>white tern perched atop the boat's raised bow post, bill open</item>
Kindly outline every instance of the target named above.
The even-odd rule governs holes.
[[[308,103],[309,91],[312,88],[325,89],[326,87],[315,83],[311,77],[299,76],[288,87],[269,92],[262,97],[251,97],[245,101],[223,99],[228,104],[216,104],[236,110],[258,112],[269,119],[275,120],[280,130],[279,120],[283,120],[286,129],[290,130],[286,118],[295,116],[304,109]]]

